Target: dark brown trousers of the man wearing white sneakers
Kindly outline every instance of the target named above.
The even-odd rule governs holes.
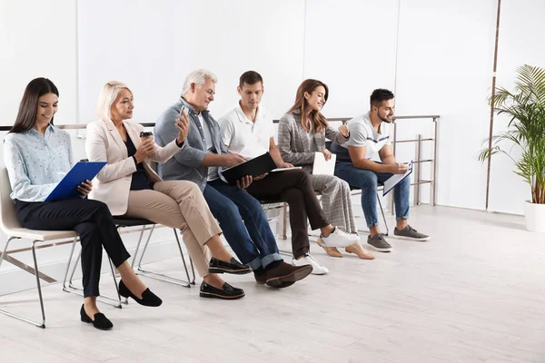
[[[312,230],[329,224],[323,214],[320,201],[312,189],[308,174],[301,169],[270,172],[262,180],[252,182],[246,191],[262,201],[280,200],[288,203],[292,228],[292,252],[296,259],[309,253],[310,250],[307,218],[311,222]]]

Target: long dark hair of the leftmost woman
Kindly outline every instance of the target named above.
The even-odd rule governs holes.
[[[38,108],[38,98],[47,93],[54,93],[57,97],[59,95],[56,86],[49,79],[40,77],[35,78],[28,83],[25,88],[25,93],[23,93],[23,99],[19,104],[19,112],[17,113],[14,126],[9,132],[27,132],[34,127],[36,122],[36,110]],[[53,118],[50,123],[53,124]]]

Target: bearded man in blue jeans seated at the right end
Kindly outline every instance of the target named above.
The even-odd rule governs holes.
[[[391,251],[391,245],[379,229],[377,187],[393,174],[403,174],[407,167],[395,161],[392,126],[393,93],[384,89],[371,94],[371,111],[348,122],[350,139],[342,145],[332,144],[337,154],[335,175],[350,185],[362,189],[362,209],[370,230],[367,243],[381,252]],[[397,226],[393,234],[407,240],[430,240],[408,224],[411,179],[405,178],[393,190]]]

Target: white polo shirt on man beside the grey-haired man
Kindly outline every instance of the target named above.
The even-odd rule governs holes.
[[[230,152],[253,159],[269,151],[273,137],[272,113],[259,106],[255,122],[249,120],[237,104],[219,120],[222,142]]]

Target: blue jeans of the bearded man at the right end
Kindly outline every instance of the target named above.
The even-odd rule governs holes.
[[[335,176],[348,182],[351,186],[362,189],[362,210],[367,227],[379,225],[377,214],[377,188],[386,182],[391,172],[372,172],[358,169],[352,162],[337,162]],[[405,178],[393,188],[393,203],[397,221],[409,219],[409,196],[411,193],[411,179]]]

